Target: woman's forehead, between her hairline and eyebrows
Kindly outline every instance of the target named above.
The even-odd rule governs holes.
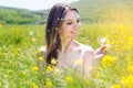
[[[73,19],[79,19],[79,13],[74,10],[70,10],[66,12],[64,20],[73,20]]]

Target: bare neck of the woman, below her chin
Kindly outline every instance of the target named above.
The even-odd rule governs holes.
[[[69,47],[70,47],[70,44],[72,43],[72,38],[68,38],[68,40],[61,40],[61,45],[62,45],[62,50],[61,50],[61,52],[62,53],[65,53],[68,50],[69,50]]]

